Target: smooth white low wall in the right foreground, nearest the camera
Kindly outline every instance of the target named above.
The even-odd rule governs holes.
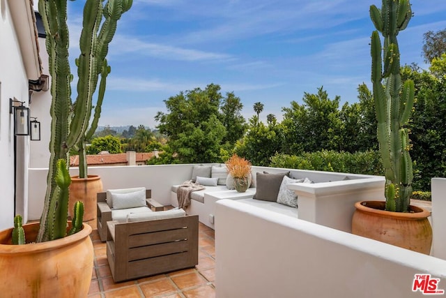
[[[237,201],[219,200],[216,218],[218,298],[423,297],[422,273],[446,289],[446,261],[429,255]]]

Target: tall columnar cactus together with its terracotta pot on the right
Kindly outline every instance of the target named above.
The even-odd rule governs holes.
[[[406,124],[413,109],[412,80],[401,82],[399,31],[406,29],[412,10],[409,0],[383,0],[370,6],[376,28],[371,34],[373,84],[378,143],[385,171],[385,202],[357,202],[352,232],[429,254],[432,242],[429,212],[410,205],[412,160]],[[379,33],[384,37],[381,44]]]

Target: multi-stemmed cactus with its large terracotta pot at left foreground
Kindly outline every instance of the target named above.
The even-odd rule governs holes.
[[[108,46],[116,23],[132,0],[86,0],[76,59],[77,98],[71,100],[72,73],[68,62],[67,0],[39,0],[47,33],[49,73],[52,77],[52,117],[47,191],[40,223],[0,232],[0,292],[9,297],[86,297],[93,268],[91,227],[82,223],[83,204],[74,204],[68,221],[68,152],[81,144],[91,119],[92,98],[100,77],[99,100],[110,72]],[[100,104],[99,104],[100,105]],[[93,126],[100,107],[96,107]],[[13,245],[24,244],[24,245]],[[7,294],[6,294],[7,293]]]

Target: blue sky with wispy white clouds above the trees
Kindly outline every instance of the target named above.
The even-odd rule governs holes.
[[[84,1],[68,1],[70,53],[77,57]],[[264,105],[261,119],[304,92],[323,86],[341,104],[370,86],[369,36],[374,29],[365,0],[134,0],[110,45],[100,125],[144,124],[165,112],[163,100],[180,91],[220,84],[243,103]],[[422,36],[446,28],[445,0],[412,0],[415,16],[399,35],[401,61],[423,68]]]

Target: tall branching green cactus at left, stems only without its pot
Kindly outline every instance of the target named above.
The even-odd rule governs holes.
[[[116,32],[116,24],[121,15],[132,6],[132,0],[107,0],[105,4],[103,2],[103,0],[86,0],[84,5],[82,33],[79,40],[81,53],[76,59],[79,79],[77,98],[74,103],[72,103],[70,87],[73,75],[68,62],[67,0],[39,0],[38,3],[47,33],[49,74],[52,77],[49,171],[45,204],[36,239],[38,242],[58,239],[66,235],[66,209],[70,185],[66,179],[68,151],[77,144],[82,144],[86,137],[98,78],[101,77],[100,89],[102,89],[103,98],[105,77],[110,72],[105,59],[109,43]],[[102,103],[102,98],[98,100],[100,103]],[[99,107],[96,106],[93,126],[98,124],[100,103]]]

